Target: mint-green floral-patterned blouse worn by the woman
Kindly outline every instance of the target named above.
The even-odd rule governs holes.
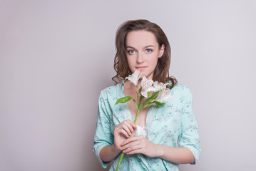
[[[162,107],[151,105],[145,121],[145,133],[148,140],[158,145],[171,147],[187,147],[194,155],[195,162],[200,155],[198,124],[192,108],[192,94],[188,87],[178,83],[170,90],[172,98]],[[106,168],[108,162],[100,157],[101,149],[113,144],[113,130],[124,120],[133,120],[127,103],[115,105],[118,98],[123,97],[123,85],[108,87],[101,91],[98,100],[98,119],[94,137],[93,152]],[[137,133],[136,133],[137,134]],[[121,154],[111,162],[115,170]],[[195,164],[195,163],[193,163]],[[119,167],[122,171],[133,170],[178,170],[178,165],[159,157],[148,157],[143,154],[123,155]]]

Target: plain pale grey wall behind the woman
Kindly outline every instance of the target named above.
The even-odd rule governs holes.
[[[163,28],[171,75],[193,92],[202,154],[180,170],[255,170],[256,3],[0,1],[0,170],[103,170],[92,152],[116,29]]]

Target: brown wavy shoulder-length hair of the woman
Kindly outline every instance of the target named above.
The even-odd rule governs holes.
[[[116,56],[114,60],[116,76],[113,76],[112,80],[116,83],[121,83],[129,74],[132,73],[126,58],[126,36],[130,31],[140,30],[150,31],[153,33],[158,41],[159,48],[161,48],[162,45],[165,46],[163,56],[158,58],[158,63],[153,74],[153,81],[162,83],[171,82],[171,85],[168,86],[168,88],[173,88],[178,81],[173,76],[169,76],[170,43],[160,26],[151,23],[148,20],[130,20],[119,26],[116,31]]]

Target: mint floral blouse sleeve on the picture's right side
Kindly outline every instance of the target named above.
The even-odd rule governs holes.
[[[193,153],[195,162],[191,164],[195,165],[199,159],[201,149],[199,147],[198,123],[193,114],[192,94],[190,90],[185,93],[182,109],[179,143],[180,147],[187,147]]]

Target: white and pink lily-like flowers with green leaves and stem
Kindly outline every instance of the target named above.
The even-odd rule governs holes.
[[[143,76],[140,84],[140,88],[138,89],[137,84],[138,84],[138,80],[140,79],[139,75],[140,75],[140,71],[136,70],[133,74],[126,77],[126,79],[128,79],[131,83],[135,85],[137,100],[135,100],[130,96],[125,96],[123,98],[119,98],[115,104],[117,105],[118,103],[127,103],[129,100],[133,100],[133,103],[137,108],[137,114],[135,116],[134,123],[136,123],[138,113],[140,113],[140,110],[153,104],[157,105],[158,107],[161,107],[165,105],[163,101],[170,98],[169,89],[166,88],[166,85],[168,83],[165,83],[165,84],[158,83],[158,81],[153,82],[152,80],[148,80],[145,76]],[[118,170],[118,167],[121,163],[123,154],[124,153],[122,152],[122,155],[116,167],[116,171]]]

